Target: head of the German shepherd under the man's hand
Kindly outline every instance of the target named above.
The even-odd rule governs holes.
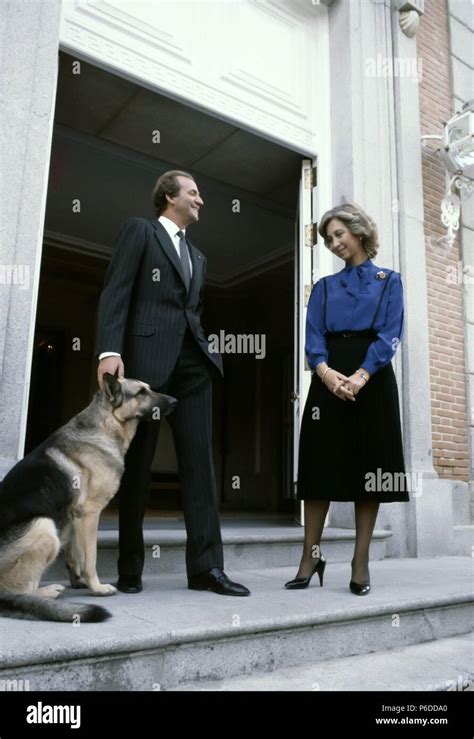
[[[133,418],[154,418],[167,416],[178,402],[176,398],[155,393],[141,380],[118,380],[106,372],[103,377],[104,395],[110,402],[114,416],[123,423]]]

